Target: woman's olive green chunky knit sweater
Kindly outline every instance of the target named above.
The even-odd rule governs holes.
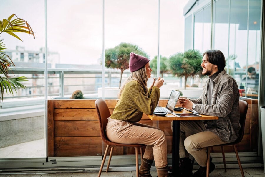
[[[143,87],[137,81],[128,82],[117,102],[111,119],[138,122],[143,113],[153,114],[160,97],[160,90],[153,86],[149,89],[148,96],[145,95]]]

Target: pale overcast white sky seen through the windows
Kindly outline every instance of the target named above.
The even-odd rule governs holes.
[[[160,55],[184,50],[183,7],[188,0],[160,0]],[[60,54],[60,63],[95,64],[102,55],[103,12],[100,0],[47,0],[47,47]],[[44,0],[1,0],[0,19],[16,14],[27,20],[33,36],[19,34],[23,42],[0,34],[8,49],[45,46]],[[138,45],[149,58],[158,53],[158,1],[105,0],[104,47],[120,42]]]

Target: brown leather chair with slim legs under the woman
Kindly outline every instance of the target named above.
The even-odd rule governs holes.
[[[109,157],[109,161],[108,161],[108,165],[107,165],[107,169],[106,169],[106,172],[108,172],[108,169],[110,166],[112,151],[113,151],[113,148],[116,146],[125,146],[125,147],[134,147],[135,148],[136,176],[138,177],[139,176],[138,148],[140,148],[141,160],[142,160],[143,147],[145,145],[143,145],[143,144],[120,144],[120,143],[115,143],[115,142],[111,142],[110,140],[108,140],[106,133],[105,133],[105,130],[106,130],[107,122],[108,122],[107,118],[110,117],[110,110],[109,110],[106,102],[103,99],[97,99],[95,101],[95,106],[96,106],[98,121],[99,121],[99,125],[100,125],[100,136],[101,136],[101,139],[103,140],[103,142],[107,145],[107,148],[105,150],[104,157],[102,159],[102,163],[100,166],[100,171],[98,173],[98,177],[100,177],[100,175],[101,175],[108,150],[111,147],[110,157]]]

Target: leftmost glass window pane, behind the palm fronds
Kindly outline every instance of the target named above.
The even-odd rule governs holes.
[[[4,39],[2,42],[7,48],[4,51],[7,51],[6,54],[16,66],[12,68],[14,75],[10,74],[10,77],[25,76],[27,79],[21,82],[26,86],[25,89],[13,91],[14,95],[4,94],[3,102],[1,101],[0,158],[45,159],[44,65],[32,60],[32,53],[40,53],[40,48],[45,46],[44,1],[2,0],[1,20],[12,14],[29,23],[35,32],[35,39],[24,33],[16,33],[22,41],[7,33],[0,35],[0,40]],[[31,148],[24,148],[25,143]]]

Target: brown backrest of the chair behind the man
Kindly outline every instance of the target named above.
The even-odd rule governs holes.
[[[239,123],[241,125],[241,128],[238,132],[238,138],[236,139],[233,144],[241,142],[243,135],[244,135],[244,130],[245,130],[245,122],[246,122],[246,114],[248,111],[248,103],[244,100],[239,100],[239,110],[240,110],[240,120]]]

